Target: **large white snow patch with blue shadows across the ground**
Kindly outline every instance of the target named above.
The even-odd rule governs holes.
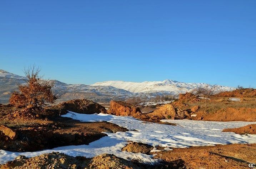
[[[43,153],[62,152],[72,156],[94,157],[102,153],[115,154],[122,158],[143,158],[151,161],[152,155],[142,153],[122,152],[127,141],[147,143],[152,146],[185,148],[190,146],[212,146],[215,144],[256,143],[256,135],[239,135],[232,132],[222,132],[224,128],[235,128],[256,122],[211,122],[192,120],[162,120],[176,123],[177,126],[149,123],[132,117],[114,116],[100,113],[93,115],[70,112],[63,117],[71,117],[84,122],[108,121],[126,127],[130,131],[107,133],[89,145],[64,146],[37,152],[8,152],[0,150],[0,163],[15,159],[18,155],[34,157]],[[134,130],[134,131],[131,131]]]

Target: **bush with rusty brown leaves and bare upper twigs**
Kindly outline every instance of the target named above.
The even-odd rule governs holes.
[[[33,106],[42,106],[45,102],[54,103],[57,97],[52,93],[49,84],[40,84],[38,80],[40,68],[30,66],[28,69],[24,69],[24,73],[28,80],[25,85],[19,85],[20,93],[14,92],[10,97],[10,104],[16,107],[26,106],[31,104]]]

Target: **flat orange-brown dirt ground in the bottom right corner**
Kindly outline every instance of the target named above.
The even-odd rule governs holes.
[[[181,168],[249,168],[249,163],[256,163],[256,144],[174,148],[156,154],[155,158]]]

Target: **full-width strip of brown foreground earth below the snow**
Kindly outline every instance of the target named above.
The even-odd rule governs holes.
[[[134,144],[137,148],[140,143]],[[152,147],[147,146],[148,149]],[[143,149],[145,150],[145,149]],[[72,157],[63,153],[52,152],[32,158],[18,156],[15,160],[0,165],[0,169],[50,169],[50,168],[174,168],[174,169],[243,169],[250,163],[256,163],[256,144],[230,144],[151,152],[159,162],[147,164],[141,159],[126,160],[111,154],[101,154],[94,158]]]

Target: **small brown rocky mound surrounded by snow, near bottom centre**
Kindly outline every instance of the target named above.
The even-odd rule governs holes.
[[[144,143],[130,142],[125,147],[122,148],[122,151],[132,152],[132,153],[144,153],[150,154],[150,151],[153,149],[153,146]]]

